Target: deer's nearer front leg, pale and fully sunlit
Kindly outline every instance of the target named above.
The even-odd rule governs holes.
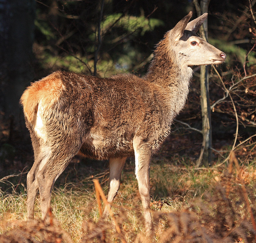
[[[149,170],[152,157],[152,148],[143,142],[140,137],[133,139],[133,149],[135,154],[135,174],[138,180],[141,203],[144,211],[145,227],[148,234],[152,230],[152,218],[150,212],[150,181]]]

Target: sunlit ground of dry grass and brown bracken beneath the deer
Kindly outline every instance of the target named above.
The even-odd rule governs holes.
[[[52,214],[56,218],[49,214],[45,221],[38,219],[38,199],[37,220],[29,225],[25,222],[26,194],[2,192],[0,242],[255,242],[251,217],[256,212],[255,169],[243,166],[239,169],[242,178],[237,168],[231,169],[153,163],[154,231],[149,239],[144,235],[137,182],[129,169],[122,176],[113,207],[121,232],[116,231],[111,218],[100,218],[95,193],[90,186],[83,189],[83,183],[54,188]],[[92,178],[84,181],[91,184]],[[102,186],[106,189],[106,183]]]

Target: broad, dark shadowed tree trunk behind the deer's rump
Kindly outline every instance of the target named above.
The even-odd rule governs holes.
[[[19,100],[32,81],[34,0],[0,0],[0,110],[19,119]]]

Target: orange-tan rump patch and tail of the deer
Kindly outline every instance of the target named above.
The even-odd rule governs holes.
[[[44,110],[49,109],[59,99],[63,89],[58,72],[31,84],[20,98],[28,122],[32,123],[35,119],[39,103]]]

